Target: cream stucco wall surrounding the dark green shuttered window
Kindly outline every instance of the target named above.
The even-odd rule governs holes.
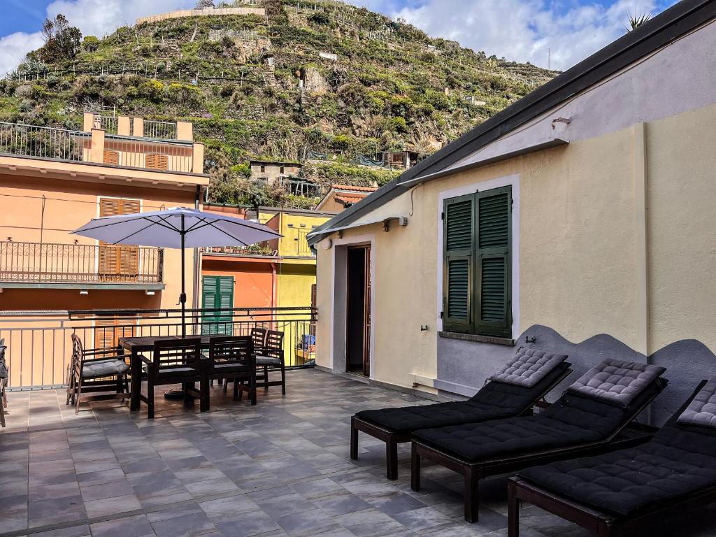
[[[404,387],[415,374],[435,378],[440,193],[513,174],[522,329],[543,324],[573,342],[609,334],[645,354],[687,338],[716,349],[713,125],[715,105],[475,168],[418,186],[412,202],[409,192],[380,208],[380,216],[412,215],[405,228],[334,233],[332,248],[317,245],[318,363],[332,367],[339,348],[331,341],[334,289],[345,278],[334,270],[337,248],[369,235],[374,378]]]

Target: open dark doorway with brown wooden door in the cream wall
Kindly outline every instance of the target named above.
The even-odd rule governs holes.
[[[370,377],[371,248],[347,251],[346,371]]]

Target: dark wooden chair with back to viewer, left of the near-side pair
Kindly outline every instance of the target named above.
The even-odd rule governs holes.
[[[201,412],[209,410],[209,383],[203,372],[200,337],[160,339],[154,344],[152,359],[141,359],[147,374],[147,397],[142,399],[149,407],[150,419],[154,418],[154,387],[166,384],[182,384],[184,402],[198,397]],[[200,390],[196,390],[195,382],[200,383]]]

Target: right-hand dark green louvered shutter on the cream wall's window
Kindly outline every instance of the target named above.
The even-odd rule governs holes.
[[[511,337],[511,187],[475,194],[475,330]]]

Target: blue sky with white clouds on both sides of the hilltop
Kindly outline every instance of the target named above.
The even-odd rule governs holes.
[[[296,0],[298,1],[298,0]],[[676,0],[347,0],[415,24],[433,37],[539,67],[568,69],[624,35],[629,14],[656,15]],[[42,21],[62,13],[84,35],[195,0],[0,0],[0,76],[42,46]]]

